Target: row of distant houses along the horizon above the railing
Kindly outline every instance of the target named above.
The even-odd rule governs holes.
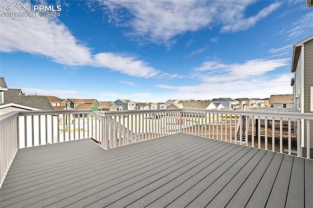
[[[293,81],[294,82],[294,81]],[[173,108],[198,108],[217,110],[244,110],[245,107],[293,107],[293,95],[271,95],[269,99],[258,98],[218,98],[213,100],[168,100],[164,103],[134,102],[118,99],[98,101],[97,99],[61,99],[56,96],[28,95],[22,89],[7,88],[4,78],[0,78],[1,114],[13,110],[65,110],[91,109],[92,111],[153,110]]]

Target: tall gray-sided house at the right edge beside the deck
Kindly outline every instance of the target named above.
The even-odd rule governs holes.
[[[304,39],[292,46],[291,79],[293,87],[293,106],[301,113],[313,113],[313,36]],[[306,124],[301,126],[301,144],[306,149]],[[310,133],[313,135],[313,122],[310,122]],[[313,137],[311,139],[311,150],[313,149]],[[303,151],[304,153],[306,151]],[[311,151],[311,158],[313,151]]]

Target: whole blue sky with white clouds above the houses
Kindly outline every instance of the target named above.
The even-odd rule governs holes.
[[[0,8],[17,2],[1,0]],[[0,76],[9,88],[60,98],[292,94],[292,44],[313,35],[305,0],[21,2],[62,10],[1,16]]]

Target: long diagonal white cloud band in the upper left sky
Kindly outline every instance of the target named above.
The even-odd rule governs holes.
[[[11,4],[12,1],[1,2],[1,5]],[[1,52],[21,51],[45,56],[66,66],[110,68],[135,77],[153,77],[159,73],[135,57],[109,52],[92,54],[91,49],[77,40],[58,18],[1,17],[0,23]]]

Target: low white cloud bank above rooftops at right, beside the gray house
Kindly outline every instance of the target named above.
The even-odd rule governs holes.
[[[271,94],[292,94],[291,73],[271,72],[289,64],[289,59],[250,60],[245,63],[224,64],[204,62],[194,70],[196,85],[158,84],[156,87],[171,90],[179,99],[213,99],[220,97],[267,98]],[[188,83],[188,82],[184,82]],[[165,93],[165,92],[164,92]]]

